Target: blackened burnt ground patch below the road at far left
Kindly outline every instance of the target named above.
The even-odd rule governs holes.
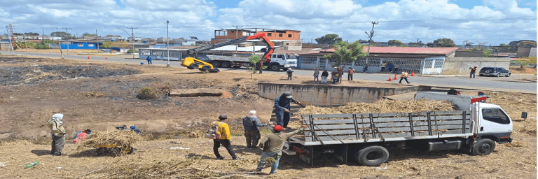
[[[111,69],[104,66],[2,66],[0,67],[0,85],[32,85],[52,80],[130,76],[138,73],[141,72],[135,69]]]

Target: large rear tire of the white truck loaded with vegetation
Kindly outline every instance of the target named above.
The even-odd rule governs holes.
[[[379,145],[368,146],[359,150],[354,159],[364,166],[380,166],[389,159],[389,150]]]

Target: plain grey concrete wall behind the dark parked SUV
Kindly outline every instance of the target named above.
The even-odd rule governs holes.
[[[469,74],[469,67],[478,66],[476,73],[485,66],[502,67],[509,69],[509,58],[491,58],[491,57],[448,57],[443,66],[443,74]]]

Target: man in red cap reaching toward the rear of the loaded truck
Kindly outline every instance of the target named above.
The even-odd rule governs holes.
[[[282,132],[282,126],[276,125],[275,127],[273,127],[273,131],[275,133],[263,136],[260,141],[260,148],[263,152],[261,152],[261,158],[258,164],[258,168],[256,168],[256,173],[261,172],[261,169],[263,168],[263,166],[265,166],[265,160],[267,157],[273,157],[273,159],[275,159],[275,163],[271,165],[270,174],[277,173],[278,162],[280,161],[280,157],[282,156],[282,148],[284,148],[284,142],[286,142],[291,136],[294,136],[295,134],[304,131],[305,127],[306,126],[303,126],[295,131],[284,133]]]

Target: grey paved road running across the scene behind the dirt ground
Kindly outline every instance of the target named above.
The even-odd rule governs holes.
[[[1,54],[11,54],[11,52],[0,51]],[[15,52],[17,55],[32,55],[40,57],[60,57],[60,53],[36,53],[36,52]],[[88,59],[88,55],[64,55],[68,59]],[[145,59],[132,59],[132,55],[118,55],[118,56],[107,56],[108,59],[104,59],[104,56],[99,55],[90,55],[92,60],[106,60],[113,62],[126,62],[132,64],[140,64],[144,62]],[[129,58],[129,59],[126,59]],[[153,64],[166,65],[167,61],[153,59]],[[180,66],[180,63],[177,61],[170,61],[170,66]],[[221,71],[240,71],[244,69],[221,69]],[[275,72],[275,71],[264,71],[264,73],[279,73],[284,75],[284,72]],[[295,75],[299,76],[312,76],[313,71],[310,70],[295,70]],[[384,73],[355,73],[354,80],[368,80],[368,81],[382,81],[386,82],[387,79],[391,76],[394,78],[394,74],[384,74]],[[530,76],[520,76],[519,78],[528,78]],[[347,79],[347,74],[344,74],[344,78]],[[399,78],[399,76],[398,76]],[[434,85],[434,86],[443,86],[443,87],[457,87],[457,88],[471,88],[479,90],[502,90],[502,91],[512,91],[512,92],[528,92],[536,93],[537,92],[537,83],[518,83],[518,82],[506,82],[499,81],[499,79],[512,79],[518,78],[514,75],[509,78],[506,77],[481,77],[476,76],[474,79],[461,78],[461,77],[452,77],[452,78],[439,78],[439,77],[425,77],[425,76],[413,76],[408,80],[413,85]],[[387,82],[388,83],[388,82]],[[398,81],[392,83],[398,83]]]

